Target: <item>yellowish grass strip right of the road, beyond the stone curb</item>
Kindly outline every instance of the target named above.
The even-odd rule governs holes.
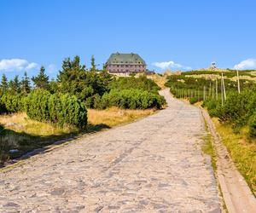
[[[237,169],[256,195],[256,140],[247,138],[247,128],[235,134],[230,124],[220,124],[218,118],[212,120]]]

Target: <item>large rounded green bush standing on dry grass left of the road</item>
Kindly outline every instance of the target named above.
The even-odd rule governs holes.
[[[84,128],[87,111],[75,95],[50,95],[44,89],[34,90],[27,96],[26,113],[29,118],[63,126],[70,124]]]

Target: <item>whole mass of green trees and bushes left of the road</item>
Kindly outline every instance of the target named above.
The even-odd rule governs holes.
[[[165,100],[158,95],[159,89],[145,76],[116,78],[104,69],[98,70],[93,56],[87,69],[75,56],[62,61],[56,79],[49,80],[44,66],[32,78],[25,72],[21,80],[15,76],[8,81],[3,75],[0,113],[26,112],[38,121],[84,128],[87,108],[160,109]]]

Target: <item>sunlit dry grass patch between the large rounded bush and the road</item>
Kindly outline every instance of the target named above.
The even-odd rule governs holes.
[[[154,112],[154,109],[130,110],[119,109],[118,107],[112,107],[106,110],[89,109],[88,122],[93,125],[106,124],[109,127],[113,127],[118,124],[132,122],[137,118],[146,117],[153,114]]]

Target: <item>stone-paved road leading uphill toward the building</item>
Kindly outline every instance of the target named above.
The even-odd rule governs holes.
[[[220,212],[200,109],[163,90],[148,118],[0,173],[1,212]]]

